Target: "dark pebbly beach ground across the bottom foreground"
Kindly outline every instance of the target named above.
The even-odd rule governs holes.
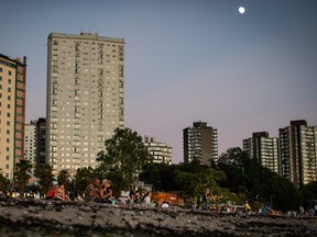
[[[0,236],[317,236],[316,217],[1,201]]]

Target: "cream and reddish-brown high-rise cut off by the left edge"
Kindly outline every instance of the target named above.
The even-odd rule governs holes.
[[[24,155],[25,80],[26,57],[0,54],[0,169],[10,179]]]

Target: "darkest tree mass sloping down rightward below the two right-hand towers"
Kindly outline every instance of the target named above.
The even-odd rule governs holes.
[[[291,181],[262,167],[239,147],[222,154],[218,168],[227,176],[220,184],[237,193],[240,202],[243,195],[245,200],[272,201],[273,207],[283,212],[297,210],[302,202],[302,193]]]

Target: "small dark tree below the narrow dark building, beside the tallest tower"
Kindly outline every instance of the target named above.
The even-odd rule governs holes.
[[[36,170],[36,178],[40,179],[39,183],[41,185],[42,194],[46,194],[54,181],[53,167],[48,163],[41,165],[39,170]]]

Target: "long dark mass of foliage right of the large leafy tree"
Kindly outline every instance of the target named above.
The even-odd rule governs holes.
[[[262,167],[240,147],[228,149],[210,167],[201,166],[199,160],[172,166],[147,163],[140,179],[155,190],[181,190],[192,200],[209,189],[211,203],[243,204],[248,200],[258,210],[261,203],[272,201],[273,207],[283,212],[302,204],[303,194],[291,181]],[[303,193],[305,206],[311,206],[317,200],[317,182],[307,184]]]

